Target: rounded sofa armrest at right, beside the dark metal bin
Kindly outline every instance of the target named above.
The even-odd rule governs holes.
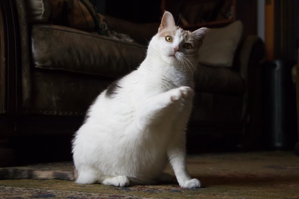
[[[241,120],[246,124],[244,146],[260,138],[262,129],[262,68],[265,57],[264,42],[250,35],[242,42],[239,52],[239,72],[246,84]],[[253,147],[253,146],[251,146]]]

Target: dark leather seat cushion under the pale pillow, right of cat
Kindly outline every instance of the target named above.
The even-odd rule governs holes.
[[[195,90],[219,94],[242,95],[245,82],[239,72],[226,67],[199,64],[194,74]]]

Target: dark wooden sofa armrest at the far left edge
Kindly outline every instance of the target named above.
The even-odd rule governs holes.
[[[29,96],[29,90],[22,88],[30,88],[29,37],[24,0],[2,0],[0,15],[0,113],[15,114],[22,109],[22,96]]]

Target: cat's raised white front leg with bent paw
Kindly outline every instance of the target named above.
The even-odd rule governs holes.
[[[138,126],[143,128],[158,123],[171,106],[183,98],[192,97],[193,93],[190,87],[182,86],[140,101],[137,109]]]

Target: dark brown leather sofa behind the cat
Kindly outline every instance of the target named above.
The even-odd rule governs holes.
[[[135,42],[121,41],[53,24],[47,16],[42,16],[41,21],[31,20],[32,10],[26,1],[29,0],[1,0],[0,139],[12,140],[10,145],[14,150],[23,143],[19,140],[13,144],[17,138],[71,136],[93,99],[110,82],[141,63],[146,42],[159,25],[133,24],[107,17],[110,28],[128,34]],[[217,31],[221,34],[222,30]],[[216,138],[220,138],[219,143],[235,147],[242,142],[241,135],[256,132],[263,42],[253,35],[240,37],[232,53],[230,66],[199,63],[187,134],[190,151],[209,147],[207,143]],[[217,57],[221,59],[220,55]]]

